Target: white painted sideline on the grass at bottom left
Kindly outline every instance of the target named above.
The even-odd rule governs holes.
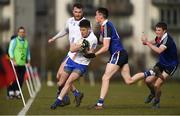
[[[36,98],[36,94],[35,96],[31,97],[28,101],[25,107],[23,107],[23,109],[18,113],[18,116],[25,116],[27,111],[29,110],[30,106],[32,105],[34,99]]]

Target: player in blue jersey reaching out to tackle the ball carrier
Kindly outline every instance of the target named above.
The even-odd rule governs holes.
[[[85,55],[87,58],[94,58],[107,51],[109,51],[111,55],[102,77],[100,98],[95,105],[95,109],[103,108],[103,102],[109,88],[109,81],[119,69],[126,84],[130,84],[129,81],[131,79],[128,65],[128,54],[121,43],[121,38],[119,37],[114,25],[108,21],[107,18],[108,10],[106,8],[97,9],[95,19],[96,22],[101,25],[99,40],[103,45],[96,53],[88,53]]]

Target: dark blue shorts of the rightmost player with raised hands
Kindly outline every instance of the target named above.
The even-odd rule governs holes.
[[[165,66],[165,65],[162,65],[161,63],[156,63],[156,65],[154,66],[155,67],[158,67],[160,72],[162,73],[163,71],[165,71],[168,75],[172,76],[174,74],[174,72],[176,71],[177,69],[177,65],[175,66]]]

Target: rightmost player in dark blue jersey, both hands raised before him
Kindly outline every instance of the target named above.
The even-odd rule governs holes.
[[[159,54],[159,60],[153,69],[144,72],[145,82],[150,89],[149,96],[145,99],[145,103],[150,103],[154,108],[159,108],[161,97],[161,86],[176,71],[178,62],[177,48],[173,38],[167,33],[166,23],[159,22],[155,28],[156,38],[148,41],[142,38],[144,45]],[[142,73],[139,73],[143,75]]]

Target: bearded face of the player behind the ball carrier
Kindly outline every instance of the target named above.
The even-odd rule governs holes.
[[[73,9],[73,16],[75,18],[75,20],[80,20],[83,17],[83,10],[79,9],[77,7],[74,7]]]

